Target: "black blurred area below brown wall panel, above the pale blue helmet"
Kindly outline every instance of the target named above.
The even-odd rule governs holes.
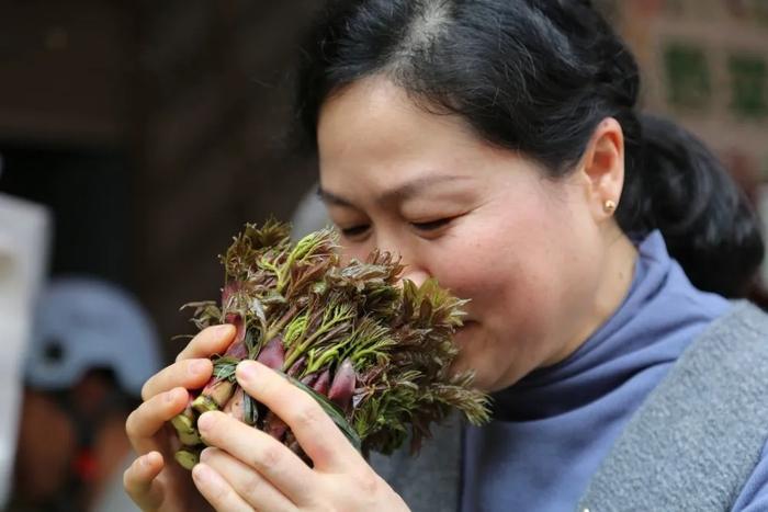
[[[3,145],[0,192],[48,206],[52,274],[129,286],[131,177],[120,151]]]

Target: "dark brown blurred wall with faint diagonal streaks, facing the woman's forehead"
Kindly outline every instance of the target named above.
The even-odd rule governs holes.
[[[137,286],[165,334],[179,306],[217,298],[223,252],[245,221],[291,216],[310,186],[289,158],[291,71],[313,0],[144,2]]]

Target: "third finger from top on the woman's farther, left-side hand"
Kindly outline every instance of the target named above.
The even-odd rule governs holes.
[[[187,408],[189,392],[184,388],[155,395],[138,406],[125,421],[125,433],[136,453],[145,454],[156,450],[153,437],[167,421],[181,413]]]

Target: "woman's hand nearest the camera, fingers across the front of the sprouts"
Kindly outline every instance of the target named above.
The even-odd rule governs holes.
[[[197,426],[210,447],[192,477],[217,511],[408,510],[309,395],[252,361],[237,380],[291,428],[314,467],[269,434],[206,412]]]

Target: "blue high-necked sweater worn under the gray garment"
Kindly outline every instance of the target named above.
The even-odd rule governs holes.
[[[495,395],[495,420],[466,428],[463,512],[571,511],[622,429],[688,344],[730,308],[698,291],[660,234],[639,246],[622,305],[574,354]],[[734,511],[768,510],[768,453]]]

